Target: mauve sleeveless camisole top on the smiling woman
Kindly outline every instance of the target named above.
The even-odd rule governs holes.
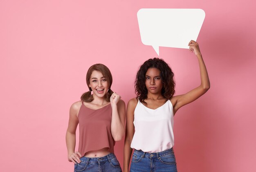
[[[83,102],[78,113],[79,120],[79,147],[78,151],[85,155],[92,150],[108,147],[114,153],[115,141],[111,134],[111,105],[100,109],[90,109]]]

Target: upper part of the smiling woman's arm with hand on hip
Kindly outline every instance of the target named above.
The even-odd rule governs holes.
[[[68,121],[67,132],[70,132],[72,134],[76,133],[76,127],[77,127],[78,122],[79,122],[77,115],[78,115],[80,107],[81,107],[81,103],[80,103],[80,106],[79,106],[79,102],[76,102],[76,103],[71,105],[71,107],[70,107],[70,118],[69,118],[69,121]]]

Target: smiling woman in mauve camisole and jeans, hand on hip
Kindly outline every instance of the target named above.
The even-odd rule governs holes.
[[[70,107],[68,161],[75,164],[75,172],[121,172],[114,145],[124,136],[125,103],[111,90],[112,75],[105,65],[92,65],[86,83],[89,91]],[[78,124],[79,147],[75,152]]]

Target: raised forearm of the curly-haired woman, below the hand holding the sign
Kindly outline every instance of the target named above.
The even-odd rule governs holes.
[[[210,80],[209,80],[209,76],[208,76],[208,73],[207,73],[207,69],[206,69],[206,66],[204,64],[202,54],[199,53],[196,56],[198,58],[198,63],[199,63],[199,67],[200,67],[201,86],[202,86],[203,89],[205,89],[207,91],[210,88]]]

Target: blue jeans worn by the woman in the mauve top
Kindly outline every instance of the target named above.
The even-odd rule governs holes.
[[[74,172],[122,172],[117,157],[110,153],[100,158],[83,156],[81,163],[75,164]]]

